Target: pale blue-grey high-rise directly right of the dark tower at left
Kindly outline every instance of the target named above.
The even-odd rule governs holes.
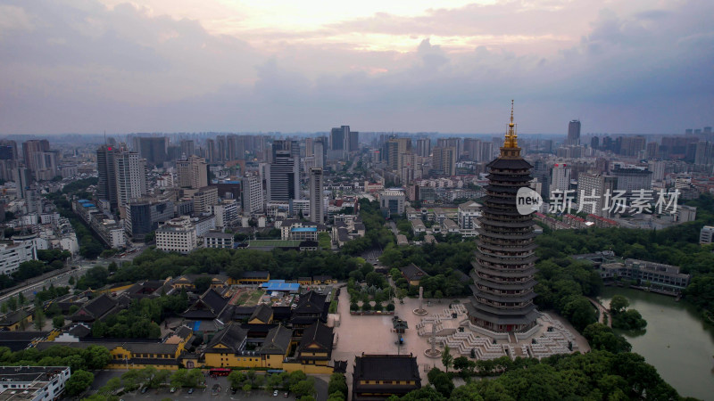
[[[120,207],[146,194],[146,161],[139,158],[136,151],[114,154],[114,174],[117,177],[117,202]]]

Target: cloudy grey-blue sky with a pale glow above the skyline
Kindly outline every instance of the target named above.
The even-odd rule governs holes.
[[[681,133],[711,0],[0,0],[0,133]]]

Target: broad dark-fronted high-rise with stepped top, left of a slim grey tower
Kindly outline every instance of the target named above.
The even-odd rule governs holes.
[[[300,163],[290,151],[274,151],[268,171],[268,201],[290,201],[300,199]]]

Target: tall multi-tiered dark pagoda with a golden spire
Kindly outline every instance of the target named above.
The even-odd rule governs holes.
[[[501,155],[488,164],[489,184],[477,229],[471,271],[469,321],[498,332],[535,326],[535,233],[531,214],[516,209],[516,192],[527,187],[532,166],[520,155],[513,111]]]

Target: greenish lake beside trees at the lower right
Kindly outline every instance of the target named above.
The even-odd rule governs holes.
[[[674,298],[618,287],[602,291],[608,307],[614,295],[630,301],[647,321],[646,331],[634,335],[619,331],[680,396],[714,399],[714,331],[706,329],[694,308]]]

